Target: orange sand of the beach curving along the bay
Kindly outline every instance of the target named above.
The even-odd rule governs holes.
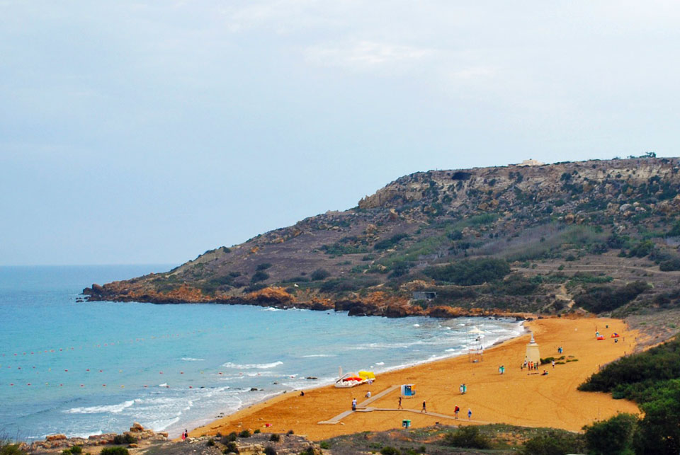
[[[608,324],[609,328],[605,326]],[[436,417],[407,411],[356,412],[344,417],[336,425],[319,425],[351,409],[352,398],[364,401],[368,385],[342,389],[326,386],[305,391],[289,392],[263,403],[223,417],[199,427],[191,436],[201,434],[227,434],[232,431],[261,429],[263,432],[304,434],[312,440],[327,439],[340,434],[366,430],[382,431],[401,427],[402,419],[410,419],[412,427],[426,427],[441,422],[451,425],[467,422],[467,409],[472,409],[472,423],[509,423],[528,427],[556,427],[580,430],[594,420],[606,419],[619,412],[639,413],[635,403],[613,400],[606,393],[577,391],[577,386],[600,365],[632,352],[636,331],[628,330],[625,323],[605,318],[549,318],[526,323],[536,335],[541,357],[560,357],[557,347],[564,347],[563,355],[574,356],[578,362],[540,367],[548,376],[528,375],[520,370],[525,347],[530,338],[526,334],[508,340],[485,352],[484,360],[471,363],[467,355],[444,359],[416,367],[378,375],[370,386],[375,396],[389,386],[416,384],[416,397],[405,399],[404,408],[420,410],[427,402],[430,413],[453,415],[455,405],[460,406],[460,419]],[[596,341],[596,328],[606,340]],[[615,343],[609,335],[621,335]],[[395,355],[398,355],[395,352]],[[499,365],[506,367],[505,374],[498,373]],[[460,395],[458,386],[467,384],[467,393]],[[370,403],[373,408],[397,408],[399,391]],[[271,427],[265,427],[271,423]]]

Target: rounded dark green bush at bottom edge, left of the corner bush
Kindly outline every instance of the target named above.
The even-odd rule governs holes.
[[[618,414],[604,422],[586,425],[586,445],[593,455],[632,454],[633,433],[638,417],[633,414]]]

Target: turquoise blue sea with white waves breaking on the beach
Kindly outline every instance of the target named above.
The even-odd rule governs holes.
[[[220,304],[78,301],[93,283],[173,265],[0,267],[0,434],[33,441],[122,432],[179,436],[279,393],[378,376],[523,332],[514,319],[350,317]],[[312,379],[310,379],[312,378]]]

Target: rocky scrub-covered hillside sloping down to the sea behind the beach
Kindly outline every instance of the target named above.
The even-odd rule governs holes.
[[[84,294],[384,316],[674,308],[679,170],[644,156],[414,173],[344,212]]]

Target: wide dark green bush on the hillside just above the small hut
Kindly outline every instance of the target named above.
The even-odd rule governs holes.
[[[443,267],[427,267],[424,274],[434,280],[460,286],[473,286],[500,280],[510,273],[510,266],[502,259],[462,260]]]

